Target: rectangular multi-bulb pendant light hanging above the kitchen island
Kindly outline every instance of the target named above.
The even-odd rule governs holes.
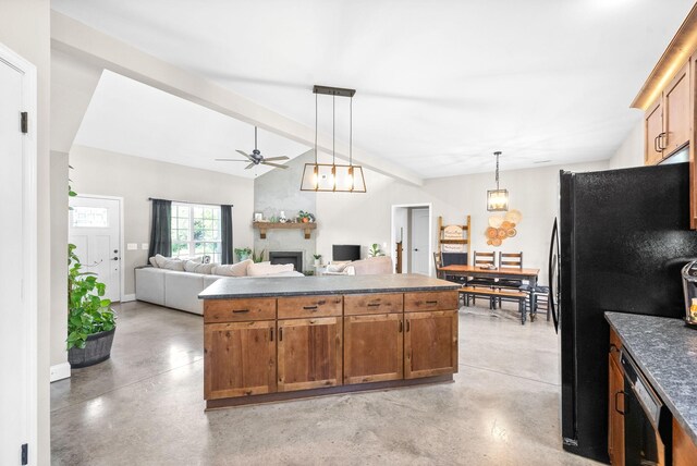
[[[329,193],[365,193],[366,181],[363,176],[363,167],[353,164],[353,96],[355,89],[341,87],[317,86],[313,87],[315,94],[315,163],[305,163],[301,191],[329,192]],[[331,164],[317,162],[317,120],[318,96],[332,96],[332,146]],[[337,163],[337,97],[348,97],[348,164]]]

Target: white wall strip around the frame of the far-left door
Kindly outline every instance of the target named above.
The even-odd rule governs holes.
[[[38,464],[50,463],[49,421],[49,341],[51,296],[47,284],[57,270],[50,263],[50,163],[49,163],[49,114],[50,114],[50,3],[48,0],[3,1],[0,14],[0,42],[36,65],[38,83],[37,144],[38,144],[38,308],[37,341],[38,357]],[[66,317],[65,317],[66,318]]]

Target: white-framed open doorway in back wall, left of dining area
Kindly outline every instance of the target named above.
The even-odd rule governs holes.
[[[432,275],[431,204],[392,206],[392,250],[402,242],[402,273]]]

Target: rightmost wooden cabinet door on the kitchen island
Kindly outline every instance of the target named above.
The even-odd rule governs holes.
[[[404,378],[457,372],[457,311],[404,315]]]

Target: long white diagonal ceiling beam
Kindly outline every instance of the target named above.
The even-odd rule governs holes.
[[[283,116],[208,78],[174,66],[56,11],[51,11],[51,47],[307,147],[315,146],[313,127]],[[310,91],[311,85],[308,85],[308,93]],[[331,136],[320,133],[317,145],[320,151],[331,154]],[[348,159],[347,145],[338,143],[335,150],[337,157]],[[353,159],[357,164],[408,184],[424,184],[424,180],[411,170],[355,147]]]

